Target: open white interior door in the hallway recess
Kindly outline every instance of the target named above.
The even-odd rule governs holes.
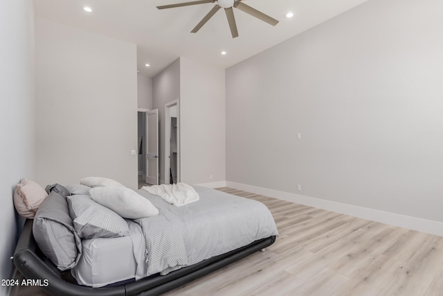
[[[159,110],[146,112],[146,183],[159,184]]]

